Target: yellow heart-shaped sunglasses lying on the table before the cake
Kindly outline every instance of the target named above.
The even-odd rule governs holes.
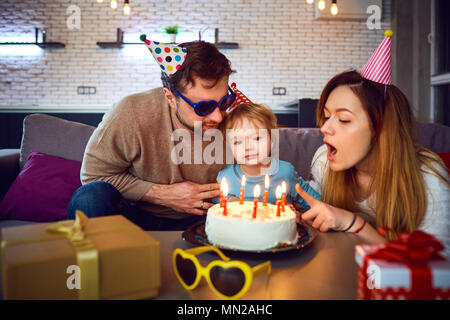
[[[222,260],[214,260],[202,267],[195,257],[207,251],[216,252]],[[270,274],[271,262],[266,261],[251,268],[243,261],[230,261],[215,247],[197,247],[187,250],[180,248],[173,252],[173,269],[186,290],[193,290],[205,277],[209,287],[223,299],[238,299],[243,296],[253,281],[253,277],[266,271]]]

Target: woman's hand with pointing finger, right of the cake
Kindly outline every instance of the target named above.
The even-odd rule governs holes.
[[[311,207],[301,215],[301,218],[313,228],[321,232],[327,232],[328,230],[343,231],[352,223],[353,213],[350,211],[317,200],[303,190],[299,184],[295,185],[295,190]]]

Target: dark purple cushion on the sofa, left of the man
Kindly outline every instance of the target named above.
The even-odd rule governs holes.
[[[0,202],[0,219],[50,222],[67,219],[67,206],[81,186],[81,162],[31,151]]]

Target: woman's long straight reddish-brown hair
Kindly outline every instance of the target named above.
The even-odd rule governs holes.
[[[437,162],[445,168],[444,163],[431,150],[416,143],[416,122],[405,95],[393,85],[366,80],[356,71],[336,75],[325,86],[317,108],[319,126],[325,123],[324,106],[328,96],[339,86],[348,86],[360,99],[374,132],[372,144],[377,161],[370,191],[375,192],[376,225],[395,233],[416,230],[427,210],[421,166],[425,165],[449,184],[434,167]],[[339,172],[328,169],[322,185],[323,201],[358,211],[359,187],[354,167]],[[395,238],[394,233],[387,236]]]

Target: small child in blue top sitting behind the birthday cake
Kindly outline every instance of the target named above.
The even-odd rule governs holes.
[[[292,204],[298,202],[303,208],[309,209],[309,205],[295,191],[295,185],[300,184],[316,199],[320,199],[320,195],[298,176],[292,164],[270,155],[274,144],[271,130],[277,129],[276,123],[277,119],[272,111],[262,105],[244,103],[233,108],[225,116],[221,129],[236,164],[220,171],[217,181],[220,183],[225,177],[229,186],[228,197],[233,201],[240,196],[241,179],[245,175],[245,200],[253,200],[254,187],[257,184],[261,189],[259,199],[262,200],[267,174],[270,181],[267,202],[275,204],[277,200],[275,189],[285,181],[286,202]]]

